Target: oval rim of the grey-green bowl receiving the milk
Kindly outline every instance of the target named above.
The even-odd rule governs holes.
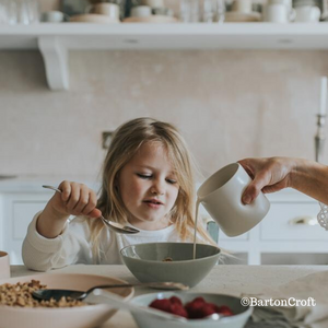
[[[218,249],[218,253],[216,254],[213,254],[213,255],[210,255],[210,256],[207,256],[207,257],[201,257],[201,258],[196,258],[196,259],[187,259],[187,260],[174,260],[174,261],[160,261],[160,260],[149,260],[149,259],[141,259],[141,258],[133,258],[133,257],[130,257],[130,256],[126,256],[124,254],[124,251],[126,251],[126,249],[128,248],[131,248],[131,247],[134,247],[134,246],[143,246],[143,245],[154,245],[154,244],[178,244],[178,245],[191,245],[194,246],[194,243],[178,243],[178,242],[160,242],[160,243],[142,243],[142,244],[131,244],[131,245],[128,245],[124,248],[120,249],[120,255],[122,256],[122,258],[128,258],[128,259],[132,259],[132,260],[136,260],[136,261],[143,261],[143,262],[151,262],[151,263],[169,263],[169,265],[174,265],[174,263],[180,263],[180,262],[196,262],[196,261],[202,261],[204,259],[209,259],[209,258],[215,258],[215,257],[219,257],[221,255],[221,248],[218,247],[218,246],[214,246],[214,245],[210,245],[210,244],[200,244],[200,243],[196,243],[196,245],[201,245],[201,246],[207,246],[207,247],[211,247],[211,248],[215,248]]]

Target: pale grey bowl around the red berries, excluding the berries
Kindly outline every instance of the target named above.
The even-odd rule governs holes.
[[[224,317],[218,321],[190,319],[181,324],[173,320],[163,320],[162,318],[153,316],[144,316],[141,313],[132,313],[138,326],[140,328],[242,328],[253,313],[253,307],[242,306],[241,298],[223,294],[165,292],[140,295],[133,297],[130,302],[141,306],[149,306],[149,304],[156,298],[169,298],[173,295],[179,297],[184,304],[198,296],[202,296],[207,302],[214,303],[219,306],[227,305],[234,315]]]

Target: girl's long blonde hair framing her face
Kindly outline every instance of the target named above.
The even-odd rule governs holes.
[[[172,161],[179,191],[169,216],[181,241],[186,241],[191,237],[195,226],[195,164],[185,140],[171,124],[143,117],[132,119],[115,131],[103,165],[103,183],[97,208],[105,218],[110,218],[115,222],[127,223],[129,213],[116,188],[116,179],[120,169],[147,142],[161,142]],[[89,220],[89,224],[92,253],[94,258],[99,260],[99,235],[102,230],[106,227],[101,220]],[[204,241],[215,245],[201,225],[198,224],[197,230]]]

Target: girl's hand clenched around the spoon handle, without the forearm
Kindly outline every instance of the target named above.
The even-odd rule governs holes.
[[[62,192],[56,192],[48,203],[58,219],[69,215],[98,218],[102,214],[95,208],[96,194],[86,185],[65,180],[58,186],[58,189]]]

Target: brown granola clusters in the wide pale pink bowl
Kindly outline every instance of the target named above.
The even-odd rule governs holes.
[[[16,307],[73,307],[84,306],[81,301],[61,297],[60,301],[37,301],[34,300],[32,293],[47,286],[40,284],[38,280],[31,282],[17,282],[15,284],[4,283],[0,285],[0,306],[16,306]]]

